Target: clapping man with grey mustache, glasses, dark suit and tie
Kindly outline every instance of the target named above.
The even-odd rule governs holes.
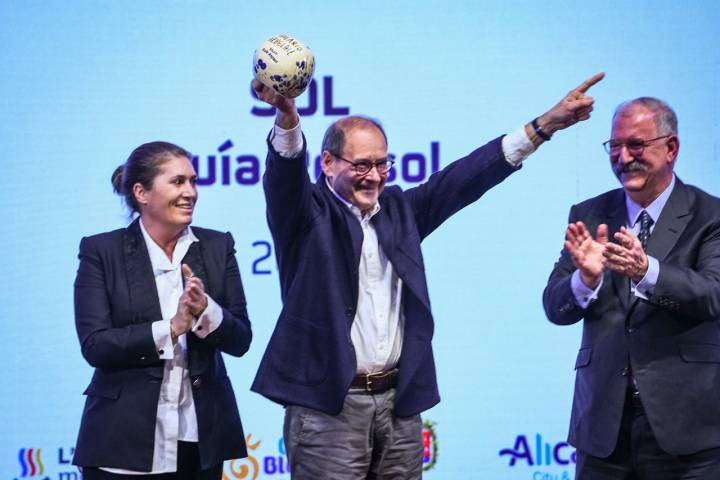
[[[720,199],[673,173],[661,100],[621,104],[604,146],[622,189],[572,207],[543,298],[553,323],[584,320],[576,478],[718,479]]]

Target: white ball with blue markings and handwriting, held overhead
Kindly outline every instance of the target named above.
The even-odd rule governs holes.
[[[280,95],[295,98],[305,91],[315,71],[315,56],[289,35],[268,38],[255,50],[255,78]]]

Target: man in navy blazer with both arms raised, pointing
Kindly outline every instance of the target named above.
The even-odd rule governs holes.
[[[440,398],[420,242],[589,118],[585,92],[602,78],[406,191],[385,188],[387,137],[359,116],[330,125],[312,183],[294,101],[253,82],[277,108],[263,186],[283,310],[252,389],[287,407],[293,479],[421,477],[420,412]]]

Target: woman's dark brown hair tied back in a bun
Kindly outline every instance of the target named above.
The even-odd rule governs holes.
[[[125,203],[132,212],[140,213],[140,205],[133,194],[133,185],[139,183],[147,190],[152,189],[160,167],[172,157],[185,157],[190,160],[192,154],[172,143],[150,142],[133,150],[127,161],[115,169],[111,179],[113,188],[115,193],[125,198]]]

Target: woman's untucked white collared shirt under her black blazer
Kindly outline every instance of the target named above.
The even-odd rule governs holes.
[[[140,230],[150,256],[150,263],[155,275],[155,286],[160,299],[162,320],[152,323],[152,334],[158,356],[165,360],[165,369],[158,399],[152,470],[137,472],[100,467],[101,470],[107,472],[126,475],[175,472],[177,471],[177,442],[198,441],[195,402],[188,371],[187,336],[180,335],[173,345],[170,320],[177,312],[178,301],[183,292],[182,259],[190,249],[190,245],[199,240],[193,234],[192,229],[187,227],[178,239],[173,250],[173,258],[170,260],[145,230],[142,218],[140,219]],[[222,322],[222,309],[212,298],[207,296],[207,299],[208,306],[193,324],[192,329],[193,333],[200,338],[205,338],[212,333]]]

